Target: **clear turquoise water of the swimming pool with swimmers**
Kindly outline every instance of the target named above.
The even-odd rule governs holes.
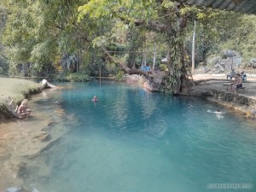
[[[37,159],[49,171],[30,170],[26,183],[38,191],[256,190],[255,122],[200,98],[135,85],[68,85],[38,103],[47,113],[49,102],[61,102],[74,119],[64,121],[67,135]],[[90,101],[94,95],[99,102]],[[217,108],[223,117],[207,113]],[[208,183],[253,183],[253,189],[214,190]]]

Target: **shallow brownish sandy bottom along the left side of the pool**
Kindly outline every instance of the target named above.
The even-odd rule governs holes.
[[[10,187],[23,187],[23,177],[26,177],[26,168],[37,164],[34,160],[44,151],[57,142],[68,128],[61,122],[73,119],[67,117],[60,105],[49,103],[49,106],[40,107],[38,101],[46,99],[38,94],[29,100],[32,116],[29,119],[1,118],[0,121],[0,191]],[[47,112],[39,110],[47,108]],[[54,115],[53,115],[54,114]],[[43,167],[40,172],[47,172]]]

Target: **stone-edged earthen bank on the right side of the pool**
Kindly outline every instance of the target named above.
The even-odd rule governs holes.
[[[189,88],[184,95],[204,96],[210,102],[216,102],[233,113],[239,113],[247,119],[255,119],[256,113],[256,75],[248,75],[243,82],[244,89],[235,92],[227,91],[231,80],[225,74],[194,75],[195,86]]]

